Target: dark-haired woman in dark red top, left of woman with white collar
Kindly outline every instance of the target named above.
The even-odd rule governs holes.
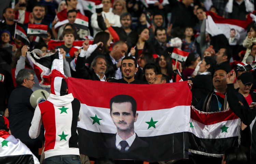
[[[185,79],[191,77],[194,72],[197,64],[200,62],[200,55],[198,53],[189,53],[187,60],[185,62],[185,68],[183,71],[183,75]]]

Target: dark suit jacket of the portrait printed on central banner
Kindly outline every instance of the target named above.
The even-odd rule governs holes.
[[[149,144],[141,140],[137,134],[130,148],[125,153],[116,149],[116,135],[106,140],[106,147],[109,152],[108,157],[111,159],[145,160],[148,158]]]

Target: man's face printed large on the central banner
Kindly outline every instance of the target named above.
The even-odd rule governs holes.
[[[137,121],[138,113],[134,117],[130,102],[113,102],[111,118],[117,128],[117,132],[134,131],[134,122]]]

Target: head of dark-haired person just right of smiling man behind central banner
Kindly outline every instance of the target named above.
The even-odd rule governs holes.
[[[153,63],[148,63],[143,68],[144,72],[144,81],[147,81],[148,84],[154,80],[155,76],[157,75],[157,68],[156,65]]]

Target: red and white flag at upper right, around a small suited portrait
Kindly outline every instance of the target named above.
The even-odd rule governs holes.
[[[226,19],[216,15],[213,12],[206,12],[206,31],[212,36],[224,34],[228,39],[230,37],[230,30],[236,30],[237,44],[242,45],[247,34],[247,26],[252,23],[249,20]]]

